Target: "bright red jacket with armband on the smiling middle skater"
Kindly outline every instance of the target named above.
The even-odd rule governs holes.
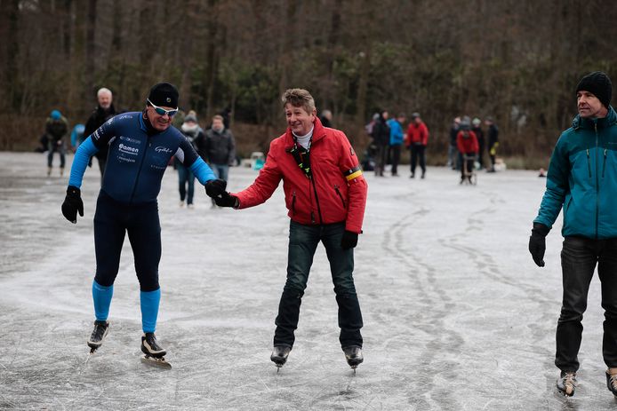
[[[289,209],[287,215],[293,221],[304,225],[344,221],[346,230],[361,233],[368,186],[345,134],[340,130],[324,128],[318,118],[315,120],[309,151],[315,188],[293,154],[289,153],[292,147],[292,130],[289,128],[282,136],[272,140],[260,175],[251,186],[233,194],[240,201],[239,208],[246,209],[265,202],[283,179],[285,205]]]

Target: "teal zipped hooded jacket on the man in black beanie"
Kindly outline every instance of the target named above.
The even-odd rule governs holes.
[[[550,158],[546,192],[533,223],[549,228],[564,209],[562,235],[617,238],[617,114],[574,117]]]

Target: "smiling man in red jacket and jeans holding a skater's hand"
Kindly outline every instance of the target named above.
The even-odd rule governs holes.
[[[268,200],[283,180],[291,218],[287,281],[283,288],[270,360],[282,367],[292,350],[300,301],[313,255],[321,241],[332,271],[339,305],[341,347],[351,368],[362,355],[362,313],[354,286],[354,247],[362,233],[367,185],[354,149],[340,130],[324,128],[306,90],[283,95],[288,128],[270,143],[268,158],[251,186],[215,197],[221,207],[246,209]]]

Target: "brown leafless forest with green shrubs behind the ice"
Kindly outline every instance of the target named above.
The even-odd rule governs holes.
[[[600,0],[0,0],[0,150],[31,150],[52,109],[84,123],[96,91],[140,110],[169,81],[202,126],[225,107],[239,152],[284,130],[306,88],[358,152],[374,112],[419,112],[429,162],[454,116],[493,116],[509,167],[546,167],[574,88],[617,79],[617,7]]]

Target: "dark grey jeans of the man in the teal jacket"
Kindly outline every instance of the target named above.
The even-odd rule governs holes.
[[[617,368],[617,239],[565,237],[561,251],[564,298],[557,321],[555,355],[555,365],[562,371],[579,369],[581,320],[596,265],[605,310],[602,355],[607,367]]]

